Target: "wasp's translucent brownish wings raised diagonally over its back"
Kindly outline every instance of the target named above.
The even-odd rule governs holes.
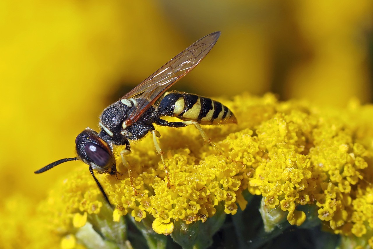
[[[129,99],[142,93],[137,106],[129,113],[125,121],[126,125],[136,122],[167,89],[197,66],[207,53],[210,52],[219,36],[220,32],[217,31],[194,42],[123,96],[122,99]]]

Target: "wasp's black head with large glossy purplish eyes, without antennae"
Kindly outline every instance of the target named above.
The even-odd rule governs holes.
[[[112,149],[97,132],[87,128],[75,139],[76,152],[80,159],[93,169],[106,172],[113,163]]]

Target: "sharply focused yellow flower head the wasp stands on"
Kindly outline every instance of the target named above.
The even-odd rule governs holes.
[[[110,219],[150,219],[155,232],[171,234],[176,222],[208,221],[218,206],[226,214],[234,215],[238,206],[244,210],[248,191],[263,196],[266,210],[282,210],[290,224],[302,225],[309,215],[301,207],[313,206],[325,229],[367,240],[373,236],[372,106],[351,102],[344,110],[316,108],[279,102],[272,94],[222,102],[239,122],[205,127],[222,153],[204,144],[194,127],[157,127],[170,188],[150,136],[133,144],[127,156],[131,178],[123,166],[116,176],[97,174],[115,207]],[[107,210],[82,165],[57,184],[39,215],[69,248],[78,245],[76,230],[97,223]]]

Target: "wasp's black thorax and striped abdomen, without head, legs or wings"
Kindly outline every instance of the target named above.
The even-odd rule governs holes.
[[[184,121],[196,121],[203,125],[236,123],[228,107],[210,98],[190,93],[167,93],[159,106],[150,106],[137,122],[126,127],[126,121],[138,99],[121,99],[104,109],[100,116],[100,137],[115,145],[128,145],[128,140],[139,140],[154,130],[153,124],[169,127],[185,127],[184,122],[168,123],[162,116],[175,116]],[[129,149],[129,148],[128,148]]]

